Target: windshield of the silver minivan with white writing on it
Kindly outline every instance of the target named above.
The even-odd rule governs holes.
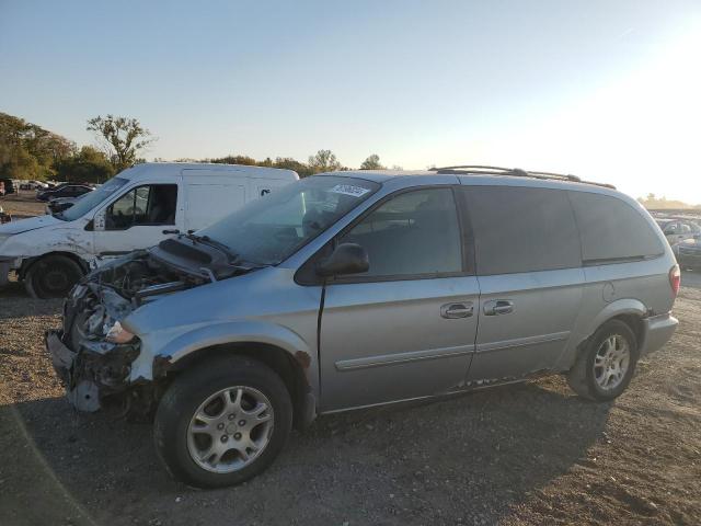
[[[227,245],[241,261],[277,264],[379,187],[361,179],[303,179],[249,203],[197,235]]]

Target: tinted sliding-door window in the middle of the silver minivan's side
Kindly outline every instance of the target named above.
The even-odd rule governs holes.
[[[578,267],[579,236],[565,191],[464,188],[478,275]]]

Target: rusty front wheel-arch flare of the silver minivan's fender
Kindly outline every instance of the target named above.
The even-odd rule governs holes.
[[[289,353],[292,359],[306,365],[306,375],[310,382],[317,377],[317,374],[310,370],[315,353],[299,334],[276,323],[241,320],[199,325],[168,342],[163,342],[163,336],[159,333],[145,334],[141,339],[141,353],[131,366],[130,381],[152,380],[153,361],[157,358],[175,364],[196,351],[227,343],[274,345]]]

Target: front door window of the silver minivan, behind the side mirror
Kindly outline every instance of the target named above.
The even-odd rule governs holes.
[[[359,243],[370,268],[361,276],[415,276],[462,271],[460,228],[450,188],[407,192],[365,217],[340,243]]]

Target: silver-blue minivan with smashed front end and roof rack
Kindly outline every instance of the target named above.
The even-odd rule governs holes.
[[[563,374],[618,397],[677,320],[639,203],[484,167],[325,173],[123,256],[47,333],[72,404],[154,414],[169,471],[261,472],[317,415]]]

